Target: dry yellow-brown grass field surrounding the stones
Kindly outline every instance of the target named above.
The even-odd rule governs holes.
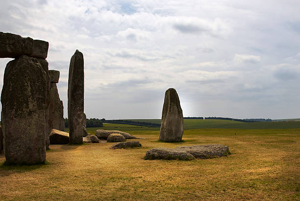
[[[146,138],[136,149],[110,150],[114,143],[50,145],[46,165],[0,166],[0,200],[300,200],[300,128],[185,127],[180,143],[159,142],[159,128],[100,127]],[[232,154],[143,159],[151,148],[196,144],[224,144]],[[0,155],[0,163],[4,160]]]

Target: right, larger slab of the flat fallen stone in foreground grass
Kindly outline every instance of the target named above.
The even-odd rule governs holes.
[[[177,147],[175,150],[187,151],[195,158],[207,159],[222,157],[230,154],[229,148],[225,145],[194,145]]]

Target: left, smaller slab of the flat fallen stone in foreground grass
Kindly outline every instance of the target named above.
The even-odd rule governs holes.
[[[187,151],[167,148],[154,148],[146,152],[144,159],[193,160],[195,157]]]

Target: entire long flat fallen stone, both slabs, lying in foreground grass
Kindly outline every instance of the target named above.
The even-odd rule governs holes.
[[[187,155],[183,154],[186,153]],[[154,148],[147,151],[145,159],[192,160],[194,158],[208,159],[227,156],[230,151],[225,145],[194,145],[182,146],[175,149]],[[190,157],[190,156],[193,157]]]

